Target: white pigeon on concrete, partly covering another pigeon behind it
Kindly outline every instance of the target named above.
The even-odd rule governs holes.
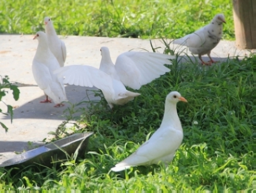
[[[46,95],[46,100],[41,101],[41,103],[51,103],[48,99],[49,96],[56,104],[54,107],[63,106],[64,104],[61,102],[68,101],[63,78],[53,74],[54,70],[60,68],[59,62],[49,50],[47,36],[44,32],[37,32],[33,39],[38,40],[38,46],[32,62],[32,72],[38,87]]]

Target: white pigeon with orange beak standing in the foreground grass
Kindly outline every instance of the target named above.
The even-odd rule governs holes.
[[[183,139],[183,130],[176,109],[178,101],[187,102],[177,91],[170,92],[166,96],[164,118],[159,129],[132,155],[112,167],[112,171],[118,172],[132,166],[159,164],[160,161],[167,164],[172,161]]]

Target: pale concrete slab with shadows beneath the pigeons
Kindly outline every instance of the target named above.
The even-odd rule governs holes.
[[[15,151],[22,152],[41,145],[44,138],[50,138],[50,131],[55,131],[60,123],[65,119],[63,111],[69,105],[55,108],[54,104],[43,104],[39,101],[44,99],[44,94],[37,87],[34,81],[31,65],[36,53],[37,40],[33,40],[34,35],[0,35],[0,75],[8,75],[10,81],[16,82],[20,89],[20,99],[15,101],[11,92],[3,98],[3,102],[15,107],[13,123],[10,123],[10,117],[0,115],[0,121],[4,122],[9,131],[0,128],[0,162],[11,158]],[[107,46],[110,49],[111,57],[115,62],[117,56],[125,51],[143,48],[151,51],[149,40],[132,38],[105,38],[105,37],[61,37],[67,48],[67,58],[65,65],[84,64],[98,68],[100,66],[100,48]],[[170,42],[171,40],[167,40]],[[162,53],[165,46],[161,40],[152,41],[154,48]],[[177,48],[177,45],[172,47]],[[177,50],[183,50],[192,56],[186,47],[178,47]],[[212,51],[215,60],[225,60],[228,56],[249,55],[248,50],[238,50],[235,48],[235,42],[221,41]],[[197,57],[196,57],[197,59]],[[208,58],[203,58],[208,61]],[[71,103],[78,103],[86,98],[86,89],[78,86],[66,86],[66,94]],[[99,100],[94,97],[93,92],[89,92],[90,100]],[[0,109],[5,111],[6,106],[0,102]],[[85,104],[83,106],[86,107]],[[30,142],[33,142],[31,145]]]

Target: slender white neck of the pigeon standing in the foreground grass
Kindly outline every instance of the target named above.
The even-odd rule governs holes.
[[[173,127],[182,131],[181,122],[177,114],[176,103],[165,102],[164,118],[160,127]]]

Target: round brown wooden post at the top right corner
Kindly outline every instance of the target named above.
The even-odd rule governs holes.
[[[256,49],[256,0],[233,0],[236,46]]]

